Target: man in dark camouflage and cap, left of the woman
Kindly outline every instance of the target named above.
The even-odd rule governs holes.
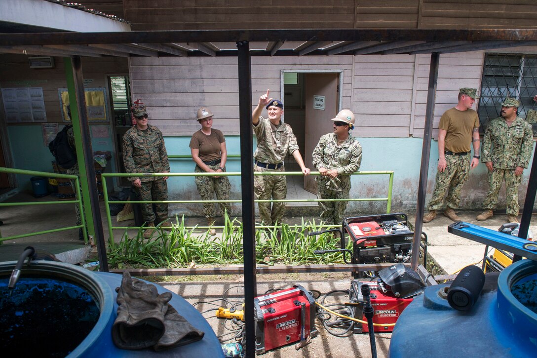
[[[136,101],[138,102],[138,101]],[[133,108],[136,125],[123,136],[123,161],[127,173],[170,173],[168,153],[164,146],[162,132],[157,127],[148,125],[146,105],[136,103]],[[165,201],[168,199],[167,176],[131,176],[128,180],[133,183],[136,196],[141,201]],[[140,204],[142,216],[148,227],[155,226],[153,204]],[[168,219],[168,204],[155,204],[156,219],[162,226],[171,226]],[[143,233],[149,238],[153,230]]]

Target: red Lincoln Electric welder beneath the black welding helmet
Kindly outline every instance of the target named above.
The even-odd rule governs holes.
[[[361,285],[368,284],[371,288],[371,305],[373,306],[373,323],[378,324],[394,324],[397,318],[401,316],[401,312],[412,302],[412,298],[397,298],[391,291],[384,292],[376,281],[372,282],[360,282],[358,280],[352,280],[351,292],[349,300],[351,304],[354,304],[354,317],[366,320],[362,316],[362,309],[364,308],[364,297],[361,293]],[[367,323],[362,323],[354,328],[354,333],[366,333],[369,332]],[[393,326],[374,326],[375,332],[391,332],[394,330]]]

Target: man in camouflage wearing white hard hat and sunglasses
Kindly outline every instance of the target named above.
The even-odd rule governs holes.
[[[346,199],[351,190],[351,176],[360,168],[362,147],[349,131],[354,127],[354,114],[340,111],[333,120],[333,133],[325,134],[313,151],[313,165],[321,176],[315,178],[318,199]],[[347,202],[318,202],[321,218],[334,225],[343,222]]]

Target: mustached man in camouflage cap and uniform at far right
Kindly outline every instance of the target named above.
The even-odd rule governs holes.
[[[489,170],[489,191],[483,201],[485,211],[476,219],[483,221],[494,216],[492,209],[505,180],[507,221],[518,223],[518,186],[532,156],[533,131],[531,124],[517,116],[520,101],[506,98],[501,105],[501,117],[490,121],[483,136],[481,161]]]

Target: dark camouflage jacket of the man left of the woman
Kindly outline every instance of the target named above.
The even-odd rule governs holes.
[[[151,125],[148,125],[146,133],[136,126],[130,128],[123,136],[123,162],[127,173],[169,172],[170,163],[162,132]],[[149,182],[155,180],[155,177],[128,177],[129,181],[136,179]]]

